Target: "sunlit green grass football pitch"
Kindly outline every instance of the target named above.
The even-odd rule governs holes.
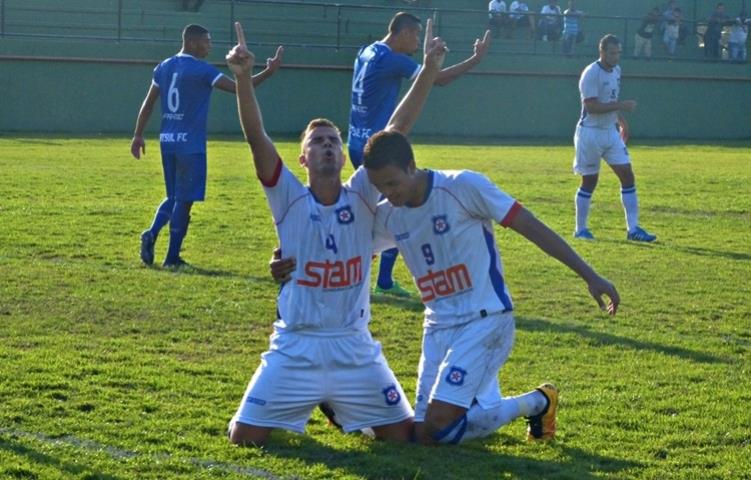
[[[297,167],[295,142],[281,143]],[[751,478],[751,174],[748,143],[631,148],[651,245],[625,241],[603,172],[575,248],[614,281],[615,318],[583,282],[498,228],[516,303],[504,393],[561,388],[557,440],[517,420],[484,440],[424,448],[342,435],[230,446],[234,413],[267,346],[275,233],[245,144],[209,145],[208,198],[184,257],[146,268],[138,236],[163,196],[158,144],[0,137],[0,478]],[[487,174],[571,239],[573,148],[416,146],[418,164]],[[166,250],[166,232],[157,261]],[[409,284],[403,264],[399,279]],[[374,304],[372,330],[414,399],[415,303]]]

